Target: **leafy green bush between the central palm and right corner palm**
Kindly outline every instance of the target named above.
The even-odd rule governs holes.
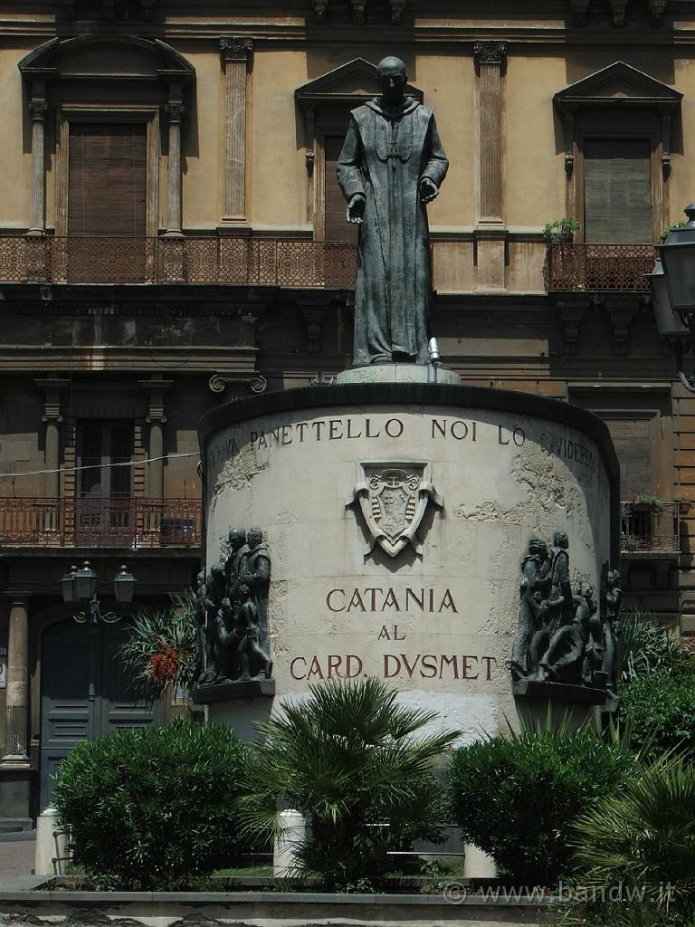
[[[625,745],[590,730],[490,738],[454,752],[454,813],[466,839],[494,857],[502,875],[554,885],[569,869],[572,821],[633,768]]]

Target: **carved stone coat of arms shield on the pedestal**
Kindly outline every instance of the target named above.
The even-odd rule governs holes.
[[[352,491],[347,505],[360,502],[362,517],[369,529],[370,540],[364,555],[371,553],[374,544],[395,557],[411,545],[416,553],[423,552],[417,539],[427,505],[432,501],[442,508],[443,500],[432,483],[425,478],[427,464],[391,463],[361,464],[364,476]]]

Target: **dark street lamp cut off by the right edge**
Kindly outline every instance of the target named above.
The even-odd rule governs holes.
[[[695,375],[687,375],[682,367],[695,337],[695,203],[685,213],[688,223],[673,229],[658,246],[659,258],[646,276],[659,334],[676,354],[681,383],[694,393]]]

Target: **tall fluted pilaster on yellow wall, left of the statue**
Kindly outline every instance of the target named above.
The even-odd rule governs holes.
[[[251,39],[220,39],[226,95],[223,225],[246,222],[246,70],[252,48]]]

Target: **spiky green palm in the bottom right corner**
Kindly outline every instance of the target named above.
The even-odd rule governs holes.
[[[654,920],[645,924],[695,920],[695,768],[682,758],[663,756],[620,794],[600,798],[575,821],[573,843],[577,882],[637,895],[635,923],[649,908]],[[599,923],[613,913],[605,923],[629,923],[618,907],[594,905],[589,917]]]

